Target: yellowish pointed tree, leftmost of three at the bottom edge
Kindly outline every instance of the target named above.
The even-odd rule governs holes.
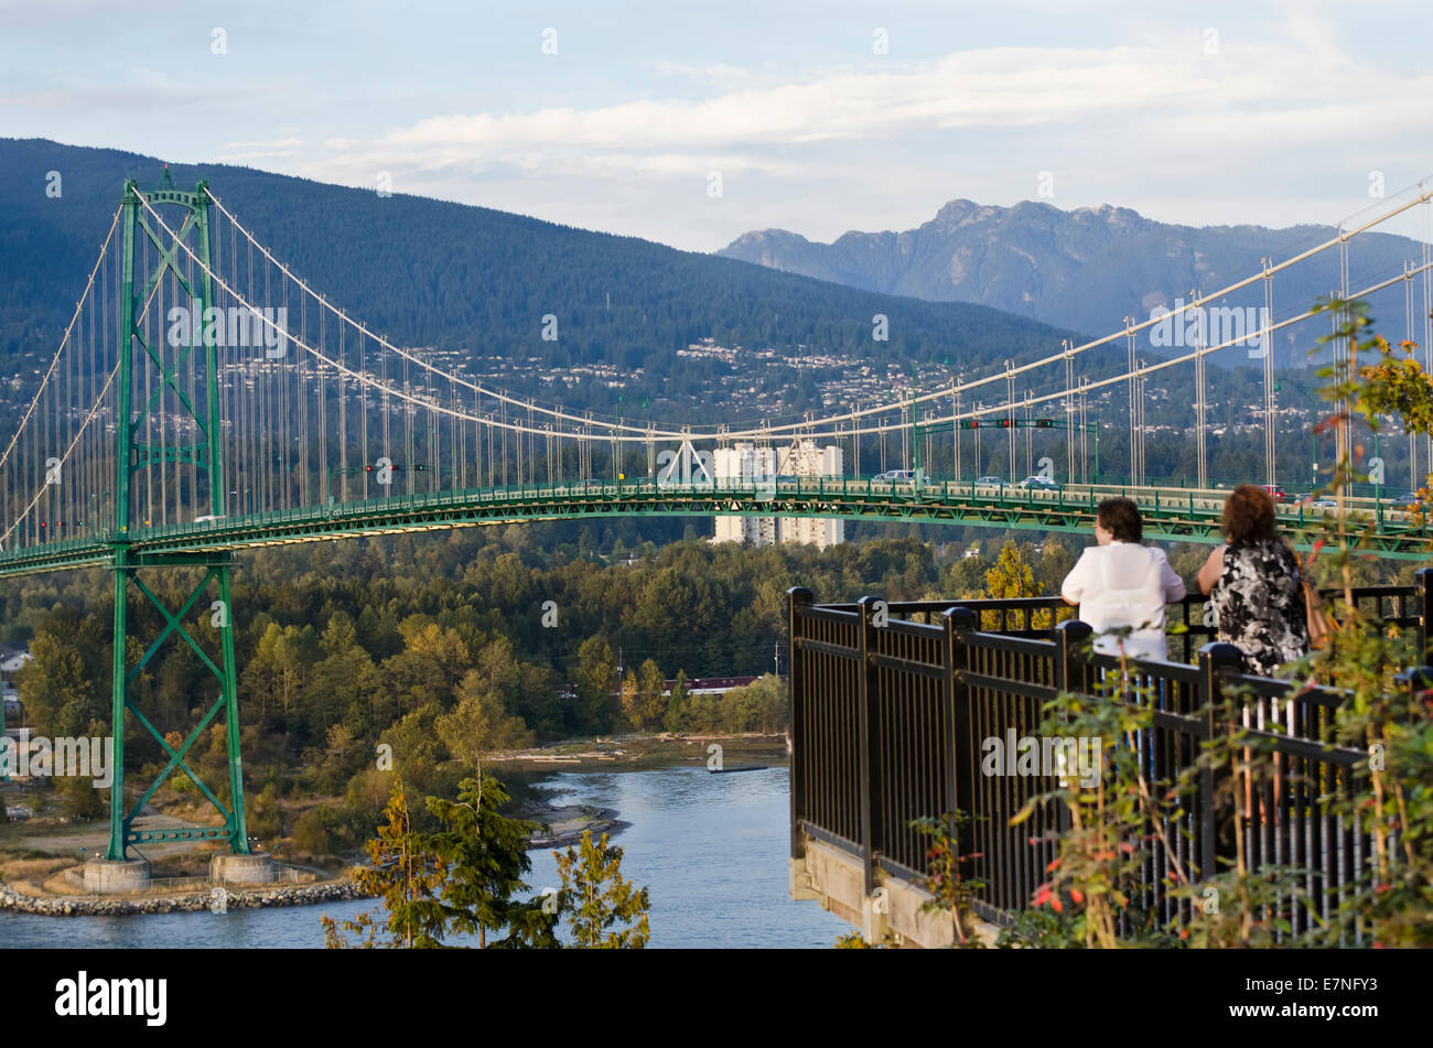
[[[388,911],[388,931],[393,933],[388,946],[441,946],[447,915],[437,899],[437,891],[443,883],[443,863],[433,850],[431,839],[414,832],[408,800],[398,779],[394,779],[383,815],[387,823],[378,828],[378,836],[367,848],[373,865],[360,866],[354,880],[370,895],[383,899],[384,909]],[[327,915],[322,921],[327,945],[347,945],[338,925]],[[342,926],[353,932],[367,931],[364,945],[373,945],[377,928],[371,922],[344,921]]]

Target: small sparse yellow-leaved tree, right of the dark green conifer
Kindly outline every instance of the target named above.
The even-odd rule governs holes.
[[[579,949],[641,949],[651,931],[646,889],[635,889],[622,876],[622,849],[608,845],[608,835],[592,843],[582,832],[577,850],[553,852],[562,889],[559,908],[567,915],[573,945]],[[629,923],[635,922],[635,923]]]

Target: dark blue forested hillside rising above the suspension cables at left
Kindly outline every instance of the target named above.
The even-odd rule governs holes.
[[[50,172],[60,176],[57,198],[46,193]],[[995,309],[854,291],[487,208],[226,165],[171,172],[176,185],[208,179],[294,272],[400,344],[557,368],[643,368],[635,387],[648,397],[679,401],[709,379],[711,368],[675,355],[702,338],[979,365],[1049,351],[1062,335]],[[0,361],[49,359],[123,179],[160,173],[160,160],[135,153],[0,140]],[[540,338],[545,314],[559,318],[556,342]],[[888,341],[873,341],[874,314],[890,318]],[[600,409],[616,395],[585,384],[567,402]]]

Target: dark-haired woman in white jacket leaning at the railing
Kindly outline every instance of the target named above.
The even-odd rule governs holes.
[[[1184,580],[1165,551],[1141,545],[1144,521],[1128,498],[1106,498],[1095,517],[1095,540],[1065,577],[1060,596],[1079,604],[1095,631],[1095,650],[1131,659],[1168,660],[1165,604],[1184,600]],[[1128,631],[1125,631],[1128,630]]]

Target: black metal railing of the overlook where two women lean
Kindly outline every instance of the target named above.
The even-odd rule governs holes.
[[[1430,588],[1433,570],[1424,568],[1413,587],[1366,587],[1356,600],[1413,633],[1416,650],[1426,651]],[[817,606],[808,590],[788,596],[792,856],[804,855],[805,840],[818,839],[861,863],[867,893],[877,870],[920,882],[929,840],[911,820],[960,809],[972,816],[962,852],[980,856],[972,870],[984,882],[977,911],[1003,922],[1026,908],[1046,879],[1069,812],[1040,806],[1010,826],[1026,802],[1056,790],[1058,780],[986,773],[986,740],[1039,737],[1045,703],[1063,692],[1098,692],[1101,676],[1116,670],[1118,660],[1091,654],[1085,623],[1056,621],[1065,606],[1055,598],[866,597]],[[1131,891],[1166,921],[1188,918],[1197,901],[1168,895],[1171,870],[1187,880],[1208,878],[1242,843],[1250,866],[1307,869],[1304,889],[1327,916],[1370,855],[1367,835],[1330,803],[1348,795],[1356,765],[1367,759],[1333,744],[1334,710],[1344,696],[1244,674],[1234,646],[1198,644],[1214,633],[1199,604],[1189,598],[1171,614],[1198,618],[1181,641],[1191,663],[1134,664],[1135,683],[1144,687],[1128,690],[1134,697],[1126,700],[1154,704],[1151,726],[1144,737],[1115,744],[1136,749],[1148,780],[1172,782],[1195,767],[1201,743],[1227,730],[1212,710],[1238,693],[1235,707],[1248,737],[1271,757],[1254,762],[1238,782],[1198,772],[1178,825],[1149,828],[1152,843]],[[1293,932],[1305,926],[1301,913],[1293,922]]]

